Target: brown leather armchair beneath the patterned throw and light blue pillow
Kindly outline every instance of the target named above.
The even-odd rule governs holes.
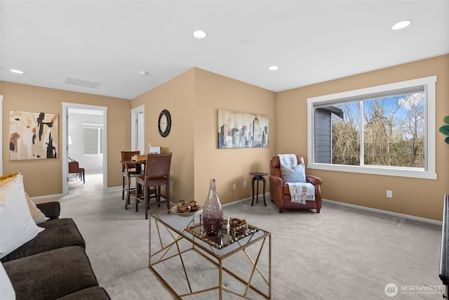
[[[300,155],[296,155],[297,164],[304,164],[304,157]],[[316,209],[316,212],[319,213],[321,209],[321,183],[323,181],[321,178],[313,176],[313,175],[305,175],[306,181],[311,183],[315,187],[315,200],[309,201],[307,200],[305,204],[294,203],[291,200],[290,189],[288,188],[288,184],[285,183],[282,179],[281,173],[281,162],[279,160],[279,156],[272,157],[270,164],[270,176],[269,176],[269,194],[272,198],[273,202],[276,204],[276,207],[279,208],[279,212],[281,213],[283,209]]]

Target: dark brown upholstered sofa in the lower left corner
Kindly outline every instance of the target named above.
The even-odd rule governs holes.
[[[16,299],[110,299],[93,273],[86,242],[72,219],[59,219],[60,203],[37,207],[50,218],[45,228],[0,261]]]

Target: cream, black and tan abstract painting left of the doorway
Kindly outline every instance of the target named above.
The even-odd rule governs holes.
[[[58,114],[9,111],[9,159],[58,158]]]

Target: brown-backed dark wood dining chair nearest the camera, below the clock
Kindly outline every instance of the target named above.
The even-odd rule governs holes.
[[[135,178],[135,211],[138,211],[139,202],[144,202],[145,219],[148,219],[150,197],[156,198],[158,207],[161,206],[161,197],[165,198],[167,209],[170,210],[171,155],[171,152],[166,154],[149,154],[145,164],[145,175]],[[166,195],[161,194],[162,185],[166,185]],[[154,196],[151,196],[152,194]]]

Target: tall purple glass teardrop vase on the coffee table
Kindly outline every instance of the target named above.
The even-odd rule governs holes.
[[[218,199],[215,179],[210,179],[209,193],[203,208],[203,228],[210,237],[220,235],[223,223],[222,204]]]

